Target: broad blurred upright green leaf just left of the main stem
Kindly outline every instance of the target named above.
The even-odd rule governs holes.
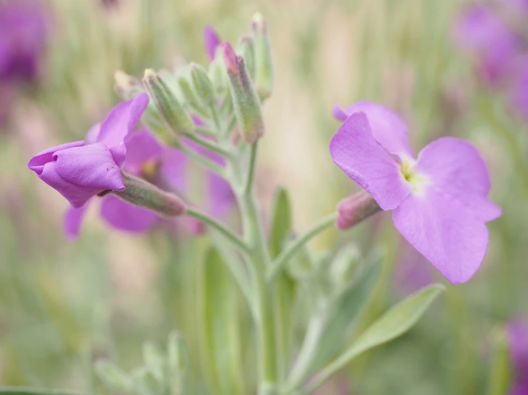
[[[218,250],[210,247],[198,272],[201,363],[214,394],[243,394],[239,293]]]

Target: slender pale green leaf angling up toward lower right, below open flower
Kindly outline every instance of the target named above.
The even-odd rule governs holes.
[[[396,306],[389,309],[388,312],[377,319],[362,335],[335,361],[329,364],[326,368],[317,374],[318,378],[314,384],[308,386],[302,394],[311,394],[312,391],[319,388],[321,384],[326,381],[329,376],[342,369],[352,359],[359,354],[366,352],[373,347],[389,342],[395,339],[418,322],[422,314],[427,308],[437,299],[439,294],[444,291],[445,287],[442,284],[432,284],[425,287],[411,296],[404,299]]]

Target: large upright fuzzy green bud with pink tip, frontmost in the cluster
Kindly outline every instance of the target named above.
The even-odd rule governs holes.
[[[244,59],[236,56],[231,45],[225,41],[222,43],[222,55],[229,76],[229,88],[241,137],[246,143],[253,144],[264,134],[259,96],[251,82]]]

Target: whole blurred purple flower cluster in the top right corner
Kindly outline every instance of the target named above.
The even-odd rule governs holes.
[[[459,46],[472,53],[477,75],[507,96],[528,119],[528,2],[480,2],[464,9],[454,26]]]

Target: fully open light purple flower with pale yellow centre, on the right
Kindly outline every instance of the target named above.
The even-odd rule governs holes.
[[[450,282],[471,278],[487,250],[485,222],[501,214],[487,198],[489,176],[477,149],[439,138],[414,159],[406,125],[388,108],[359,102],[334,114],[352,114],[330,143],[334,163],[382,210],[394,210],[397,230]]]

